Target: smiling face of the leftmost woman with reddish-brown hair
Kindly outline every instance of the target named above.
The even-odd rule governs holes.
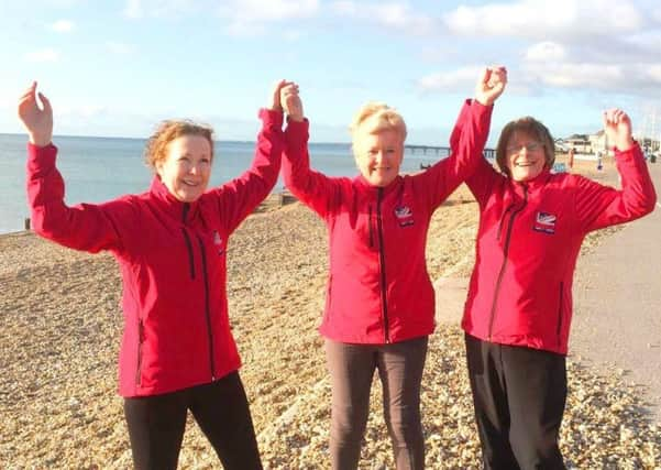
[[[211,175],[211,145],[202,135],[180,135],[167,144],[156,173],[169,193],[183,203],[192,203],[207,189]]]

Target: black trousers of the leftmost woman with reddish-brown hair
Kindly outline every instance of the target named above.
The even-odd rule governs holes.
[[[124,398],[124,416],[136,469],[177,468],[188,409],[225,470],[262,469],[239,372],[173,393]]]

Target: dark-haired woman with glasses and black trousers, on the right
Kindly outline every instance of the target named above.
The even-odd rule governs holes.
[[[652,211],[657,196],[631,121],[604,112],[621,189],[552,174],[553,139],[538,120],[509,122],[466,184],[480,205],[475,267],[462,327],[486,469],[563,469],[572,278],[584,237]],[[459,120],[461,122],[461,119]],[[456,141],[461,129],[456,129]]]

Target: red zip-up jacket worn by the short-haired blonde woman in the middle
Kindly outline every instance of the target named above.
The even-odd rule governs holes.
[[[310,170],[308,122],[288,123],[285,184],[323,218],[329,233],[323,336],[381,345],[433,331],[434,295],[425,261],[429,220],[482,159],[493,109],[477,102],[464,108],[456,152],[384,188],[362,176],[330,178]]]

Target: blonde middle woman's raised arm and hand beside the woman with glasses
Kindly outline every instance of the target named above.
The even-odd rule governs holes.
[[[451,136],[451,154],[428,170],[425,177],[432,178],[434,192],[432,206],[440,205],[456,187],[469,178],[483,160],[488,138],[493,103],[505,90],[505,67],[482,70],[475,86],[475,98],[462,107]]]

